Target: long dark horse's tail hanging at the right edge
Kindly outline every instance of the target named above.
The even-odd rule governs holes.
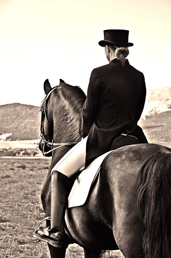
[[[171,258],[171,152],[155,153],[138,173],[145,258]]]

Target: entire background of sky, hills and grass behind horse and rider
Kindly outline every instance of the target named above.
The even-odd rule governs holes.
[[[49,257],[32,238],[51,161],[38,149],[43,83],[61,78],[87,93],[91,71],[108,63],[103,30],[129,30],[128,60],[147,87],[139,125],[149,143],[171,148],[170,8],[170,0],[0,0],[0,258]],[[66,257],[83,251],[70,245]]]

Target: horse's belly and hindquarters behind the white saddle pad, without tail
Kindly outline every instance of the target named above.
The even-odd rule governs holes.
[[[111,152],[84,205],[66,211],[66,224],[84,248],[120,249],[126,258],[142,258],[142,226],[137,212],[137,174],[158,144],[136,144]]]

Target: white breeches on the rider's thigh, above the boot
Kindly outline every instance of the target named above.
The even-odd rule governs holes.
[[[70,178],[82,167],[84,168],[87,138],[88,136],[82,139],[80,142],[78,142],[74,147],[72,147],[62,157],[62,159],[60,159],[58,163],[56,163],[56,165],[52,168],[52,171],[57,170]]]

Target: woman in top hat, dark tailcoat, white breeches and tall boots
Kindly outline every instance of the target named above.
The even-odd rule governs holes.
[[[95,68],[90,77],[84,103],[83,139],[71,148],[51,171],[50,227],[38,227],[38,239],[61,247],[64,235],[64,216],[68,201],[69,178],[95,158],[110,150],[111,144],[123,132],[148,143],[137,126],[146,99],[143,73],[125,59],[129,54],[128,30],[104,30],[109,64]]]

